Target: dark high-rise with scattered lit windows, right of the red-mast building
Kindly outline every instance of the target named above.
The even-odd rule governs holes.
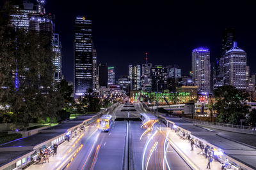
[[[152,91],[163,91],[167,89],[167,67],[156,65],[151,67],[150,76],[152,80]]]

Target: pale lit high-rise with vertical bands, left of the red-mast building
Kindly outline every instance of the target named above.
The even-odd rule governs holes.
[[[141,87],[141,70],[140,65],[129,65],[129,79],[131,80],[131,90],[140,90]]]

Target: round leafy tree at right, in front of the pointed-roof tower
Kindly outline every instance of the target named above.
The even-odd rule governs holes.
[[[216,103],[214,109],[217,111],[216,120],[222,123],[239,124],[240,119],[245,118],[250,106],[247,106],[248,93],[237,90],[232,85],[225,85],[214,90]]]

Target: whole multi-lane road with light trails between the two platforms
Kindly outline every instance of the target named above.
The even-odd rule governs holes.
[[[140,113],[146,111],[138,103],[134,103],[133,106],[124,107],[124,104],[120,104],[108,113],[116,120],[120,120],[114,122],[111,131],[101,132],[96,124],[92,124],[70,143],[60,145],[58,156],[50,157],[50,163],[33,165],[28,169],[124,169],[127,166],[125,164],[127,127],[131,134],[128,153],[130,153],[129,161],[132,164],[129,169],[149,170],[169,169],[169,167],[170,169],[189,169],[165,140],[167,131],[161,131],[162,125],[155,125],[153,131],[141,136],[145,131],[141,128],[142,123],[132,120],[139,120]],[[127,108],[134,111],[121,111]]]

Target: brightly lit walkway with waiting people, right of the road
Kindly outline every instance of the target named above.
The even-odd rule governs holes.
[[[194,150],[191,151],[191,145],[188,142],[188,139],[180,139],[180,136],[178,136],[173,130],[170,130],[168,138],[170,144],[175,148],[175,150],[177,150],[184,160],[186,160],[189,165],[195,165],[193,169],[207,169],[208,159],[205,159],[204,155],[200,155],[200,148],[195,148],[194,145]],[[211,169],[220,170],[221,163],[213,160],[211,162]]]

